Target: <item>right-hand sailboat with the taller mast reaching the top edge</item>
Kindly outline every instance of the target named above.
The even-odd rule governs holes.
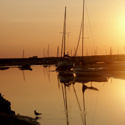
[[[76,46],[75,54],[74,56],[77,55],[78,47],[80,44],[80,40],[82,38],[82,57],[83,57],[83,50],[84,50],[84,30],[85,30],[85,0],[83,0],[83,13],[82,13],[82,22],[81,22],[81,27],[80,27],[80,33],[79,33],[79,38],[78,38],[78,43]],[[100,76],[102,73],[102,69],[99,67],[91,67],[91,64],[86,64],[83,60],[78,61],[78,63],[75,63],[73,67],[73,71],[76,73],[76,76]]]

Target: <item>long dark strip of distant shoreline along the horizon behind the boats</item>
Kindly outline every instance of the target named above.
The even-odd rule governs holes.
[[[72,56],[65,58],[72,62],[84,61],[85,63],[104,62],[110,63],[112,61],[125,61],[125,55],[95,55],[95,56]],[[29,58],[0,58],[0,66],[16,66],[23,64],[30,65],[55,65],[58,61],[64,60],[62,57],[43,57],[37,56]]]

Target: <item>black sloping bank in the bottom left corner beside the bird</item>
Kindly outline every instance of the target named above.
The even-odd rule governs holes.
[[[0,94],[0,124],[1,125],[40,125],[35,118],[16,115],[11,110],[11,103]]]

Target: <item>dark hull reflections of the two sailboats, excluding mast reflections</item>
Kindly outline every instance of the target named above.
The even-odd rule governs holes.
[[[108,77],[106,75],[92,72],[82,72],[82,75],[71,71],[58,72],[58,79],[65,85],[70,85],[71,83],[108,82]]]

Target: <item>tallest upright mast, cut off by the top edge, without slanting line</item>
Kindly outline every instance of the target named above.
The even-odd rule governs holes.
[[[84,22],[85,22],[85,0],[83,0],[83,15],[82,15],[82,56],[83,56],[83,48],[84,48]]]

